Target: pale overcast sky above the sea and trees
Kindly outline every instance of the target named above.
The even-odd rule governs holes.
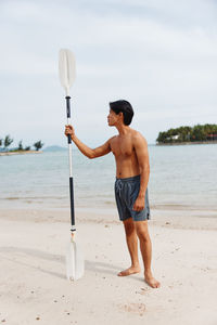
[[[0,138],[66,145],[61,48],[76,56],[72,116],[90,146],[116,133],[108,102],[128,100],[131,125],[159,131],[217,122],[217,1],[1,0]]]

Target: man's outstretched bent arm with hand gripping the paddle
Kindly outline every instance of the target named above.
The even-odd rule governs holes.
[[[107,140],[103,145],[97,148],[90,148],[75,135],[75,131],[72,126],[65,126],[65,135],[68,134],[71,135],[72,141],[79,148],[79,151],[90,159],[104,156],[111,152],[110,140]]]

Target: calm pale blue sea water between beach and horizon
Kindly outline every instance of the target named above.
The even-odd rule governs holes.
[[[0,156],[0,207],[68,209],[64,152]],[[217,217],[217,145],[149,146],[151,209],[212,210]],[[113,154],[97,159],[73,151],[75,205],[115,209]]]

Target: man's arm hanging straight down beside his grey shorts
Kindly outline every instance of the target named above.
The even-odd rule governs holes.
[[[140,168],[140,191],[135,202],[133,210],[140,211],[144,209],[144,196],[150,177],[148,143],[140,133],[137,133],[135,136],[135,150]]]

